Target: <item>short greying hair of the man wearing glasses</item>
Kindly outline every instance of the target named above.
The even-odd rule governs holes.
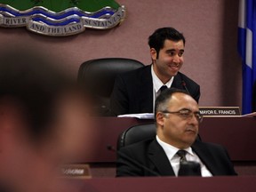
[[[172,95],[177,92],[184,93],[184,94],[187,94],[190,96],[190,94],[188,92],[186,92],[185,90],[180,90],[180,89],[176,89],[176,88],[165,89],[164,92],[161,92],[161,94],[156,98],[155,118],[156,118],[156,113],[158,111],[164,111],[167,109],[167,102],[169,100],[171,100]]]

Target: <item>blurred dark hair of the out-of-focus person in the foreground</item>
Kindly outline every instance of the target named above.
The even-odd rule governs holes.
[[[12,103],[20,110],[28,137],[39,142],[52,133],[54,103],[69,88],[74,88],[75,80],[57,63],[47,60],[36,49],[15,47],[0,53],[0,101]]]

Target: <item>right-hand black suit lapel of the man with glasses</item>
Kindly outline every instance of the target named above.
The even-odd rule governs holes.
[[[212,175],[218,175],[216,165],[214,165],[213,162],[214,156],[209,153],[208,148],[205,148],[205,146],[202,145],[202,142],[198,140],[195,141],[191,148],[196,152],[196,155],[199,156],[200,160],[205,164]]]

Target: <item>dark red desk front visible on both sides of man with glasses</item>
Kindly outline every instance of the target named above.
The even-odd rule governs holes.
[[[100,137],[96,154],[82,162],[113,163],[116,161],[116,140],[121,132],[135,124],[152,123],[136,118],[97,117],[95,127]],[[232,161],[255,161],[256,118],[254,117],[205,117],[200,125],[200,135],[206,142],[219,143],[228,149]]]

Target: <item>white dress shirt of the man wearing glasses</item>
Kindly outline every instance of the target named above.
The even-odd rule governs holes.
[[[168,157],[170,164],[172,164],[173,172],[177,176],[179,169],[180,169],[180,156],[178,156],[176,153],[178,152],[178,150],[180,150],[180,148],[175,148],[172,145],[165,143],[164,141],[160,140],[157,135],[156,135],[156,140],[159,143],[159,145],[162,148],[164,148],[164,152],[165,152],[166,156]],[[194,161],[201,165],[202,177],[212,177],[212,173],[202,163],[199,156],[197,156],[196,153],[193,152],[192,148],[184,148],[184,150],[186,150],[188,152],[186,154],[186,158],[188,161]]]

